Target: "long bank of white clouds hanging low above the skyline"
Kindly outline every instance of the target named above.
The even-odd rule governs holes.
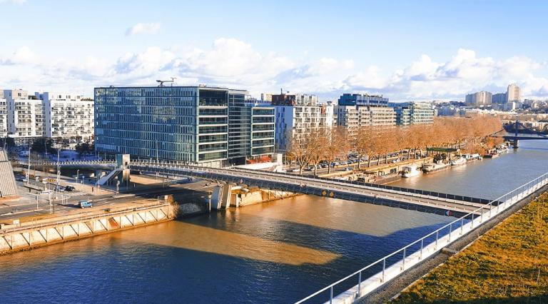
[[[0,53],[0,87],[63,90],[91,94],[94,86],[155,85],[156,79],[177,83],[247,88],[262,91],[303,91],[336,99],[342,92],[383,93],[392,100],[464,98],[465,93],[487,89],[504,91],[518,83],[523,96],[548,96],[547,63],[516,56],[502,60],[459,49],[446,61],[427,54],[402,69],[382,66],[358,68],[349,59],[305,54],[292,59],[260,52],[238,39],[220,38],[203,49],[163,49],[151,46],[121,54],[115,61],[83,56],[76,61],[41,59],[26,46]],[[36,88],[36,87],[39,88]]]

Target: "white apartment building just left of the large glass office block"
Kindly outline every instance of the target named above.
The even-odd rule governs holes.
[[[91,138],[93,101],[70,93],[35,93],[44,101],[44,136],[49,138]]]

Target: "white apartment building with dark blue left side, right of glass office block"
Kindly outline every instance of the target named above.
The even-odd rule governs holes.
[[[292,138],[303,138],[318,128],[331,128],[335,122],[333,105],[274,106],[275,148],[286,151]]]

